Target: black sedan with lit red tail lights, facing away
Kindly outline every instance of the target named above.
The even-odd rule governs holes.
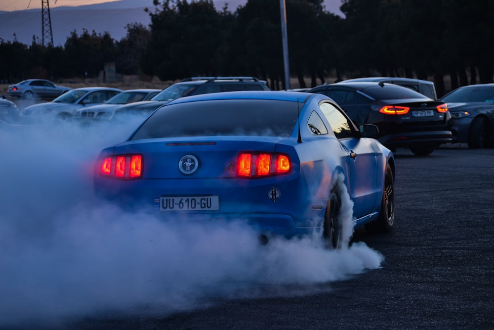
[[[403,86],[375,82],[321,85],[308,92],[331,97],[359,124],[379,128],[378,140],[388,148],[406,147],[428,155],[452,141],[448,105]]]

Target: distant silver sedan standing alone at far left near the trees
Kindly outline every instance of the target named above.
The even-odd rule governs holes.
[[[70,87],[58,86],[49,80],[28,79],[14,85],[9,85],[7,94],[25,99],[53,99],[71,90],[72,88]]]

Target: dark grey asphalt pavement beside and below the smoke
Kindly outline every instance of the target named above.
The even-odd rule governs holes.
[[[211,298],[173,315],[107,315],[69,328],[494,329],[493,160],[494,149],[465,145],[425,157],[397,150],[395,229],[354,234],[382,253],[379,269],[301,294]]]

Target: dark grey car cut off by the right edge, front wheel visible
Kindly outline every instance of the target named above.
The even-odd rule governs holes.
[[[494,84],[463,86],[444,95],[453,118],[453,142],[469,148],[494,145]]]

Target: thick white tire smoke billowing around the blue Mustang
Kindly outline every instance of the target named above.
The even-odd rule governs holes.
[[[306,294],[380,267],[382,255],[362,242],[337,251],[314,237],[262,246],[241,222],[165,223],[97,203],[93,161],[130,133],[71,124],[0,131],[0,327]],[[353,205],[348,194],[342,201],[348,243]]]

